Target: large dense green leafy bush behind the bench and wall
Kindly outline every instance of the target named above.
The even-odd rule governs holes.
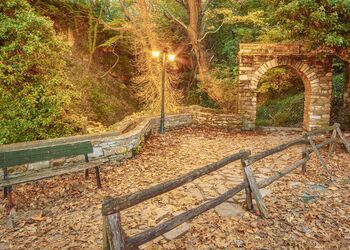
[[[24,0],[0,2],[0,144],[79,132],[64,45]]]

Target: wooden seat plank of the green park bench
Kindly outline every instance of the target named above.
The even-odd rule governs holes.
[[[37,172],[26,173],[17,177],[10,177],[6,180],[0,180],[0,187],[8,187],[11,185],[22,184],[31,181],[38,181],[43,179],[48,179],[54,176],[74,173],[81,170],[98,167],[101,165],[100,162],[89,162],[89,163],[81,163],[79,165],[65,166],[60,168],[48,168],[45,170],[40,170]]]

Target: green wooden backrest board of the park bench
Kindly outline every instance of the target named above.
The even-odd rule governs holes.
[[[0,152],[0,168],[92,153],[91,142],[78,142]]]

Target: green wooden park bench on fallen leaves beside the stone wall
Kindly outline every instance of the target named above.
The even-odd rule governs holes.
[[[85,177],[88,176],[88,170],[95,168],[96,182],[98,188],[101,188],[99,164],[89,162],[88,154],[93,152],[91,142],[73,142],[60,143],[57,145],[31,145],[30,143],[3,145],[0,147],[0,169],[3,170],[3,179],[0,180],[0,187],[4,189],[4,197],[9,200],[9,205],[13,206],[12,186],[16,184],[34,182],[42,179],[48,179],[54,176],[73,173],[85,170]],[[63,166],[26,171],[23,174],[9,176],[9,170],[18,165],[49,161],[65,157],[84,155],[85,162],[65,164]]]

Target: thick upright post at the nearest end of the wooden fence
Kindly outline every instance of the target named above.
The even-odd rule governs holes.
[[[121,227],[120,213],[108,215],[107,221],[107,238],[111,250],[125,250],[125,239]]]

